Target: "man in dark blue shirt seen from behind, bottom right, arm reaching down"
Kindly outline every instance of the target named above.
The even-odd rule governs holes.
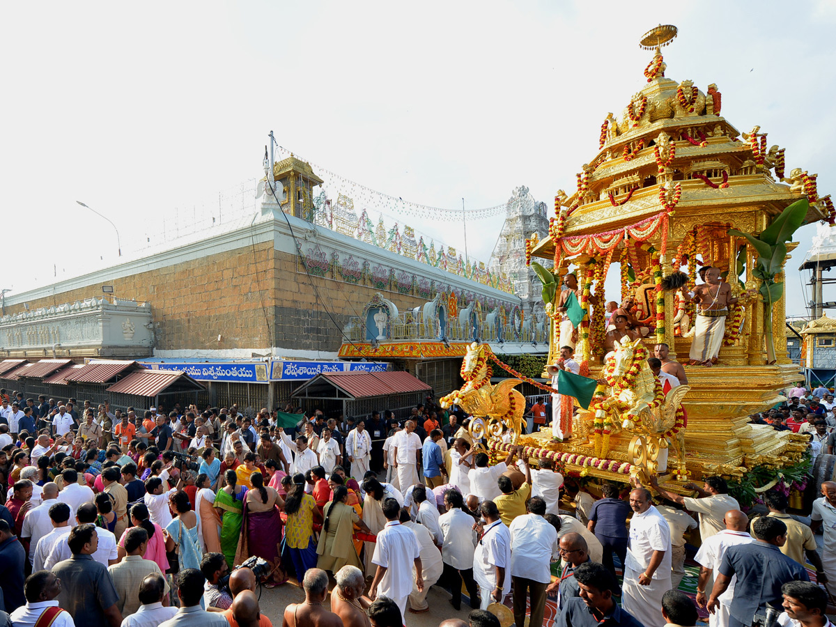
[[[752,535],[756,542],[726,550],[706,606],[713,614],[717,598],[737,575],[734,599],[729,606],[729,627],[747,627],[753,619],[765,618],[767,604],[781,606],[783,584],[810,580],[807,568],[781,553],[780,547],[787,542],[787,525],[771,516],[757,517],[752,523]]]

